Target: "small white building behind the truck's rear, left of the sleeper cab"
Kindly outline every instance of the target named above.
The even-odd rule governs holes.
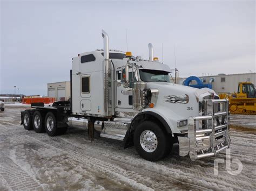
[[[70,82],[55,82],[47,84],[48,97],[55,97],[56,101],[69,100]]]

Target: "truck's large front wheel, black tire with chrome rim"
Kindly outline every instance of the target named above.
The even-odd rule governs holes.
[[[146,142],[147,133],[149,133],[148,138],[152,147],[145,148],[143,143],[140,144],[140,137],[142,136],[142,142],[143,140]],[[157,123],[151,121],[144,121],[138,125],[134,131],[133,143],[139,155],[150,161],[163,159],[172,150],[170,135],[162,130]],[[144,148],[142,145],[144,145]]]

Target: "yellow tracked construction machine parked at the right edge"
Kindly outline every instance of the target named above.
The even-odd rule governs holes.
[[[256,115],[256,90],[251,82],[239,82],[237,93],[220,94],[228,98],[231,114]]]

